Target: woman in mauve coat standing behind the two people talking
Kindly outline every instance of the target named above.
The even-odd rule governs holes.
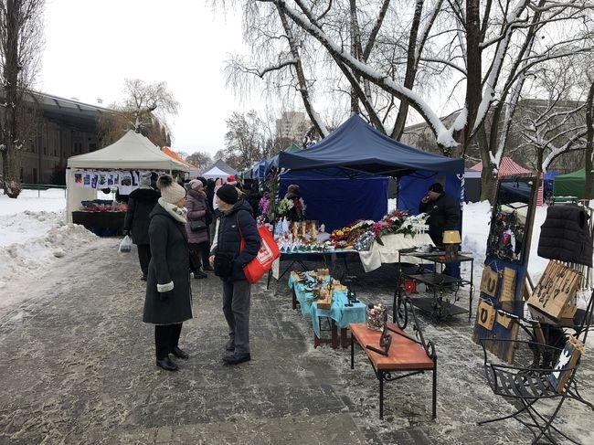
[[[207,194],[204,191],[204,185],[199,179],[193,179],[188,183],[187,198],[187,222],[186,233],[187,242],[192,256],[194,278],[207,278],[207,274],[202,271],[204,264],[202,258],[204,251],[208,249],[208,227],[203,230],[192,231],[192,221],[203,221],[207,223]]]

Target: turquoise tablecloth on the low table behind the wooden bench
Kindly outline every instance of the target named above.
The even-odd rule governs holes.
[[[308,278],[308,280],[296,281],[291,275],[289,288],[294,289],[295,297],[301,304],[303,316],[312,317],[313,332],[318,337],[320,337],[320,317],[333,319],[339,328],[348,327],[348,323],[365,323],[365,302],[355,302],[353,306],[345,306],[348,303],[346,291],[334,291],[330,309],[319,309],[316,300],[313,298],[313,292],[306,290],[308,284],[313,286],[314,280],[313,278]]]

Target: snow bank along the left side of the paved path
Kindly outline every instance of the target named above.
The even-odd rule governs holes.
[[[0,217],[0,310],[18,302],[18,289],[35,284],[50,263],[68,261],[99,239],[66,223],[64,190],[23,190],[16,199],[2,194]]]

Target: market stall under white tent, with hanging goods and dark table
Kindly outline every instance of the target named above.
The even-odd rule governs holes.
[[[163,154],[142,134],[128,131],[120,140],[89,154],[71,156],[66,170],[67,221],[85,227],[121,228],[125,208],[97,200],[98,190],[134,188],[138,171],[181,171],[189,169]],[[138,183],[136,183],[138,184]],[[74,220],[76,218],[76,221]],[[120,221],[120,222],[118,222]]]

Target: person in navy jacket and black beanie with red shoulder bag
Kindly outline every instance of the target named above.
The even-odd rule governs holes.
[[[249,299],[251,284],[246,280],[243,268],[256,258],[260,250],[260,233],[252,210],[244,199],[239,199],[233,185],[222,185],[217,190],[217,205],[222,212],[217,228],[217,243],[210,250],[210,262],[215,265],[215,256],[231,259],[227,276],[215,273],[223,281],[223,313],[228,323],[229,340],[226,345],[233,354],[223,357],[226,365],[237,365],[251,359],[249,354]],[[241,249],[241,240],[245,247]]]

